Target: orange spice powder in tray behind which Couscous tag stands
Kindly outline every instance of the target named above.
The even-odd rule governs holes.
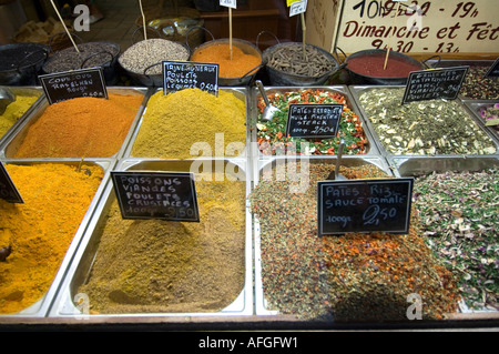
[[[110,93],[49,105],[28,129],[14,158],[109,158],[118,153],[142,95]]]

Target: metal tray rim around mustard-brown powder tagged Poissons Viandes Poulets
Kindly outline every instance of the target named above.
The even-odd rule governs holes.
[[[196,164],[193,164],[193,163]],[[203,163],[206,163],[204,165]],[[230,161],[225,159],[196,159],[196,160],[143,160],[143,159],[125,159],[119,163],[115,171],[185,171],[203,172],[204,168],[212,171],[218,171],[223,166],[225,173],[240,180],[247,179],[246,164],[240,164],[238,161]],[[245,181],[245,193],[249,193],[249,180]],[[84,314],[74,303],[78,295],[78,289],[83,284],[92,269],[92,262],[99,252],[99,242],[101,230],[109,212],[111,204],[116,200],[112,181],[109,180],[101,202],[86,229],[86,233],[81,245],[74,255],[74,261],[68,269],[63,283],[57,295],[53,306],[49,315],[51,317],[192,317],[192,316],[233,316],[233,315],[252,315],[253,314],[253,247],[252,247],[252,223],[248,204],[246,202],[245,211],[245,274],[244,287],[234,302],[218,312],[200,312],[200,313],[129,313],[129,314]],[[90,300],[91,302],[91,300]]]

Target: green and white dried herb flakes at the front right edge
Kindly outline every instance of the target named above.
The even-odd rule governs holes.
[[[426,242],[459,277],[472,310],[499,310],[499,170],[446,172],[415,182]]]

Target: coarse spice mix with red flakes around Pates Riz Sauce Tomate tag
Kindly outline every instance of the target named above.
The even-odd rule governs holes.
[[[301,171],[301,164],[288,171]],[[306,318],[407,321],[413,304],[408,296],[416,294],[425,320],[455,312],[452,274],[424,243],[415,216],[407,235],[317,235],[316,182],[330,171],[330,164],[310,163],[305,193],[292,193],[294,182],[287,175],[282,181],[262,180],[251,194],[261,226],[262,282],[269,309]],[[386,178],[368,164],[339,172],[347,179]]]

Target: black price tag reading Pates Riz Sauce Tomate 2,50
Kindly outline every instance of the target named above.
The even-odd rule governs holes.
[[[318,182],[319,236],[375,231],[408,233],[413,184],[411,178]]]

